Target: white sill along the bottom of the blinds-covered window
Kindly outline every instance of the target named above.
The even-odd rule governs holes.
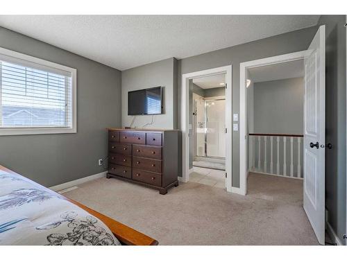
[[[0,128],[0,136],[76,134],[77,128]]]

